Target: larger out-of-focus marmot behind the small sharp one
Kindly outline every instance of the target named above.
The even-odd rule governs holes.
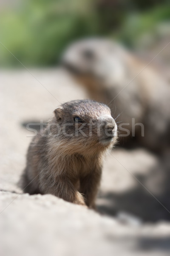
[[[107,104],[116,122],[122,122],[122,145],[138,143],[157,152],[169,147],[170,86],[150,67],[105,39],[72,44],[62,64],[85,86],[91,99]]]

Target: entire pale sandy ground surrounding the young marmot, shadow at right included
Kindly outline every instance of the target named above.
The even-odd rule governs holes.
[[[33,134],[26,124],[87,96],[55,69],[1,70],[0,91],[0,255],[169,255],[169,173],[153,154],[117,147],[107,156],[98,212],[23,194],[17,181]]]

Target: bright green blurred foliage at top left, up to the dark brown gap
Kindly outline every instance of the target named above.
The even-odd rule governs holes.
[[[0,41],[26,65],[54,64],[66,44],[95,33],[88,5],[88,0],[25,0],[1,11]],[[8,64],[17,62],[1,46],[0,65]]]

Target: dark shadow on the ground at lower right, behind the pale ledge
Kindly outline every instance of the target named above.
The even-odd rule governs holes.
[[[135,175],[136,187],[116,193],[101,192],[98,210],[102,214],[117,216],[120,212],[135,216],[142,221],[170,221],[170,163],[162,160],[147,175]]]

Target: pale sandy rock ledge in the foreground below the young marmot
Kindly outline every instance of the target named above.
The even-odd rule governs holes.
[[[52,195],[0,196],[1,207],[10,204],[1,213],[0,255],[168,255],[165,223],[130,227]]]

